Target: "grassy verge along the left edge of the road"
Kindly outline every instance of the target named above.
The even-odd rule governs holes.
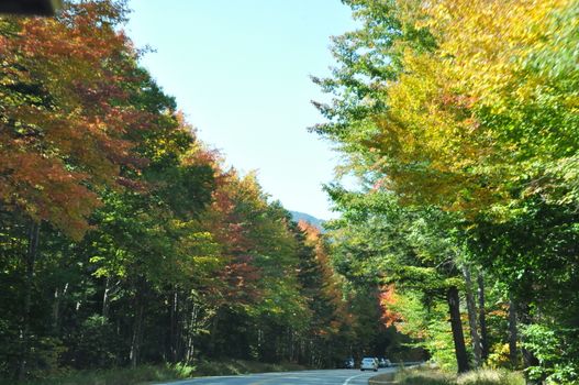
[[[267,364],[255,361],[204,361],[194,365],[142,365],[99,371],[70,371],[37,380],[14,383],[0,380],[0,385],[136,385],[209,375],[230,375],[261,372],[298,371],[296,364]]]

